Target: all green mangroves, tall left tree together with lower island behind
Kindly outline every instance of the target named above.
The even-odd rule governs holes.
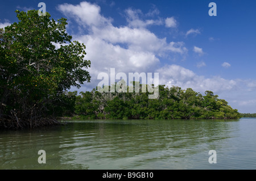
[[[0,29],[0,127],[35,128],[60,119],[237,119],[212,91],[158,85],[150,92],[69,91],[90,82],[85,45],[72,41],[67,19],[16,10],[18,22]],[[145,86],[145,85],[141,85]],[[146,85],[147,86],[147,85]],[[109,87],[111,89],[111,87]]]

